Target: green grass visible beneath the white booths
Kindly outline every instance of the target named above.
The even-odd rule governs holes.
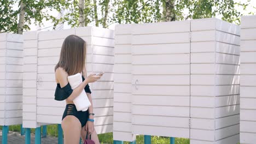
[[[21,125],[10,125],[10,131],[20,131]],[[58,136],[58,126],[57,124],[47,125],[47,135],[49,136]],[[2,126],[0,126],[2,130]],[[35,129],[31,129],[31,134],[34,134]],[[41,131],[43,132],[43,128],[41,127]],[[98,134],[98,139],[101,143],[113,143],[113,133],[106,134]],[[130,142],[124,141],[124,144],[129,144]],[[151,136],[151,143],[154,144],[162,144],[162,143],[170,143],[170,137],[165,136]],[[189,144],[189,139],[176,138],[176,144]],[[144,135],[136,136],[136,144],[144,144]]]

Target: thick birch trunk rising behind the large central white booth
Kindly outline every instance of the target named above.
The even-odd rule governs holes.
[[[165,0],[165,9],[163,9],[163,11],[165,10],[165,21],[175,21],[176,15],[174,5],[175,0]]]

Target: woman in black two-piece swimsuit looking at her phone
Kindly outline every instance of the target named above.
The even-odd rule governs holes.
[[[86,47],[85,41],[77,35],[69,35],[62,44],[60,59],[55,66],[55,80],[57,83],[55,90],[55,100],[66,100],[66,109],[63,112],[61,128],[64,134],[64,143],[79,143],[80,137],[85,141],[88,131],[88,138],[96,144],[100,143],[96,131],[94,130],[94,113],[92,109],[91,91],[88,83],[95,82],[102,75],[90,74],[86,77]],[[68,83],[67,76],[77,73],[82,74],[83,82],[75,89]],[[84,77],[86,79],[84,79]],[[73,103],[85,89],[91,106],[87,111],[77,111]]]

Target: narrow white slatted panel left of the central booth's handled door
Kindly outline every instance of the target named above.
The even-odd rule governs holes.
[[[134,141],[131,131],[131,26],[115,27],[113,139]]]

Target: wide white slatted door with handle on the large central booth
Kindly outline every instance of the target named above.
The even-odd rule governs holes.
[[[133,134],[189,138],[189,31],[190,21],[132,27]]]

